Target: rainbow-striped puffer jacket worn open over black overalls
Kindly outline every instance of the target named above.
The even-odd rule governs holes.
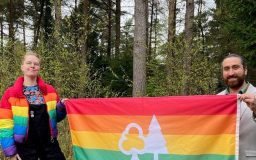
[[[19,77],[13,87],[5,91],[0,106],[0,141],[5,156],[15,155],[15,143],[23,143],[29,130],[29,103],[23,95],[24,77]],[[59,101],[57,91],[37,76],[37,84],[47,105],[51,136],[57,137],[57,122],[66,115],[65,105]]]

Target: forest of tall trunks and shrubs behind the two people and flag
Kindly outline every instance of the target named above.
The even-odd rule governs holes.
[[[216,94],[229,53],[245,57],[256,85],[256,1],[209,2],[1,0],[0,95],[22,75],[29,50],[63,98]],[[59,129],[74,159],[67,119]]]

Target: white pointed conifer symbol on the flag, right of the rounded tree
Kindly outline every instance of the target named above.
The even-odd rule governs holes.
[[[145,141],[145,153],[153,153],[154,160],[158,160],[158,154],[168,154],[167,147],[165,145],[166,141],[161,133],[161,127],[157,121],[155,115],[151,120],[149,125],[149,133],[147,135],[147,139]]]

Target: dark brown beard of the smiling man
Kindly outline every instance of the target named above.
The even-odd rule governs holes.
[[[237,78],[235,81],[229,81],[229,79],[231,78]],[[234,88],[239,88],[243,85],[243,82],[245,81],[245,73],[243,73],[243,75],[239,76],[239,75],[231,75],[231,76],[227,76],[224,79],[225,84],[227,85],[227,87],[234,89]]]

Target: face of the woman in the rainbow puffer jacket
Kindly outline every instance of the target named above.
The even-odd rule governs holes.
[[[40,61],[35,55],[26,55],[21,70],[26,77],[37,77],[40,71]]]

